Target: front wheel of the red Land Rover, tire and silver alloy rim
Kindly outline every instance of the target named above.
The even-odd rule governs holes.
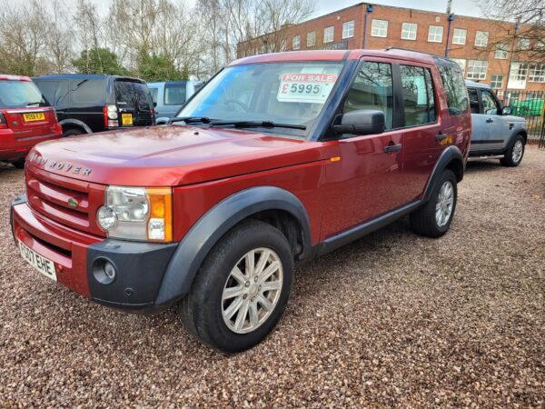
[[[256,270],[264,260],[261,271],[265,274],[250,275],[247,260],[251,258]],[[243,276],[233,276],[235,267]],[[273,273],[266,277],[267,271]],[[282,316],[292,275],[293,254],[285,236],[271,224],[244,222],[225,234],[204,260],[189,294],[179,304],[182,323],[204,344],[223,353],[251,348],[271,333]],[[262,290],[262,285],[274,289]],[[223,299],[227,293],[231,294]],[[262,300],[272,307],[266,310]]]

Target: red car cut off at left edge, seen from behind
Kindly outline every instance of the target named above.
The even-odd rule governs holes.
[[[34,145],[62,135],[53,107],[30,78],[0,75],[0,161],[22,168]]]

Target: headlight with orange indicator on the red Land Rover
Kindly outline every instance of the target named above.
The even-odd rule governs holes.
[[[108,237],[171,242],[172,208],[168,187],[108,186],[96,220]]]

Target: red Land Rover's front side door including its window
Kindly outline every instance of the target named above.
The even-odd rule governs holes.
[[[392,65],[362,62],[342,113],[380,110],[385,132],[380,135],[342,135],[340,160],[326,171],[326,208],[322,238],[341,233],[406,203],[402,178],[401,132],[393,130]]]

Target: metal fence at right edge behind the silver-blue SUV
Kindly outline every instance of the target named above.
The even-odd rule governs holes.
[[[510,106],[512,114],[522,116],[527,121],[531,139],[538,139],[540,147],[545,147],[545,91],[508,90],[497,92],[503,105]]]

